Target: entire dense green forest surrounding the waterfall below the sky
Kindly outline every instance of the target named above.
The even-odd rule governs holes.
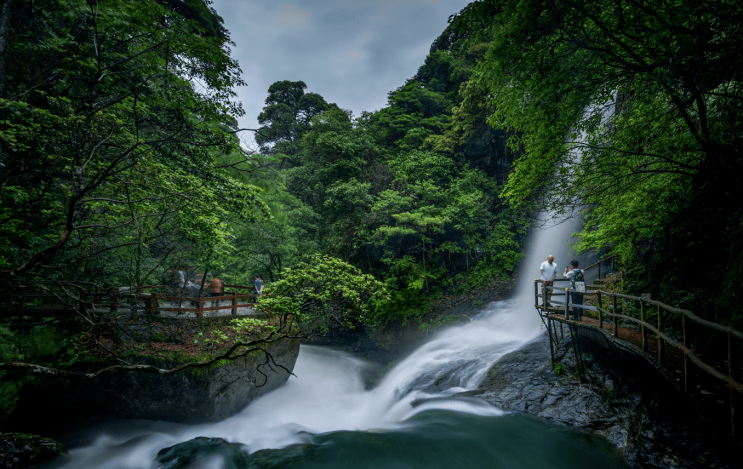
[[[274,83],[248,151],[208,1],[4,0],[2,288],[45,281],[78,308],[80,288],[182,266],[263,274],[266,308],[299,314],[292,295],[323,282],[328,314],[377,327],[509,278],[544,209],[582,217],[577,249],[621,256],[626,291],[741,327],[742,19],[721,1],[476,1],[383,109]],[[1,318],[0,373],[134,363],[90,340],[110,326],[95,311],[35,320]],[[29,379],[4,376],[0,418]]]

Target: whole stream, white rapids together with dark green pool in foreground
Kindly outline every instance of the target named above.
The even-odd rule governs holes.
[[[57,467],[159,468],[154,462],[159,450],[198,436],[239,443],[249,453],[319,445],[312,458],[276,466],[282,468],[621,467],[609,448],[584,433],[507,414],[485,401],[451,397],[476,388],[493,362],[542,333],[533,279],[548,254],[558,265],[567,264],[576,228],[566,222],[534,230],[512,299],[441,331],[374,389],[366,390],[363,382],[371,363],[335,349],[302,346],[296,377],[238,415],[201,425],[107,421],[68,436],[70,456]],[[244,466],[215,456],[191,467]]]

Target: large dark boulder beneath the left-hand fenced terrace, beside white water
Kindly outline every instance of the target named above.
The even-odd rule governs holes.
[[[221,421],[288,380],[299,355],[299,340],[279,340],[266,350],[273,358],[270,365],[267,355],[258,351],[210,369],[186,369],[172,376],[114,372],[95,381],[57,379],[38,386],[33,392],[36,396],[25,398],[34,404],[22,413],[45,414],[57,422],[96,415],[186,424]],[[54,399],[48,399],[49,395]]]

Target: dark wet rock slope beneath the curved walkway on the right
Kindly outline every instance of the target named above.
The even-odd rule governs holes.
[[[575,339],[567,328],[564,337],[554,369],[545,334],[496,362],[479,389],[459,395],[603,435],[636,467],[742,467],[730,439],[706,424],[646,358],[579,329],[581,383]]]

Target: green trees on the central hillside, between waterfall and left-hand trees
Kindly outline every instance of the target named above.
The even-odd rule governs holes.
[[[444,36],[415,77],[389,94],[389,106],[355,119],[334,105],[316,106],[308,118],[313,113],[297,111],[309,95],[304,83],[271,85],[258,138],[278,157],[271,174],[282,183],[266,200],[287,200],[286,190],[296,198],[293,213],[303,216],[257,230],[299,236],[248,229],[257,239],[239,243],[251,259],[232,265],[268,269],[275,279],[297,265],[300,252],[337,256],[389,288],[391,300],[374,307],[374,324],[421,317],[441,288],[510,276],[531,206],[511,209],[497,198],[514,153],[504,146],[506,133],[487,126],[489,108],[476,104],[486,91],[468,81],[484,48],[463,48],[467,34],[452,28]],[[282,209],[271,208],[280,217]],[[302,249],[279,256],[299,240]],[[272,252],[261,256],[262,266],[253,262],[256,246]]]

